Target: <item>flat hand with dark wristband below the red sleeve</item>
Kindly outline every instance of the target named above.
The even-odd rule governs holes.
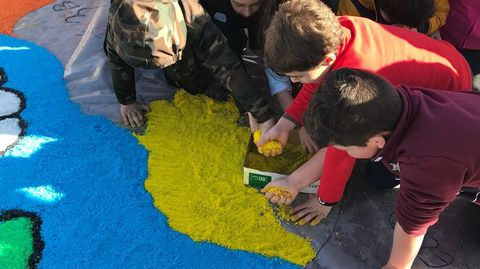
[[[316,195],[311,195],[308,200],[292,209],[291,221],[304,225],[310,222],[310,225],[315,226],[328,216],[332,210],[331,206],[324,206],[318,202]]]

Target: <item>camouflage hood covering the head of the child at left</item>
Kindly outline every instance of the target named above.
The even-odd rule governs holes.
[[[182,57],[187,27],[178,0],[112,1],[113,49],[133,67],[167,67]]]

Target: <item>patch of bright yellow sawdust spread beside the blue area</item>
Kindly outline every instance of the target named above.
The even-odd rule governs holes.
[[[180,91],[147,115],[145,181],[169,225],[195,241],[280,257],[305,265],[311,242],[287,232],[258,190],[242,184],[249,130],[235,124],[233,103]]]

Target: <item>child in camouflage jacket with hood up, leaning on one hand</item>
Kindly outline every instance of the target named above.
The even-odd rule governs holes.
[[[272,105],[195,0],[112,0],[104,47],[126,125],[141,126],[146,109],[136,100],[134,68],[164,68],[170,83],[192,94],[216,80],[260,129],[274,124]]]

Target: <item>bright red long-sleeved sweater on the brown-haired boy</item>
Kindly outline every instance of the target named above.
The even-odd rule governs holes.
[[[338,17],[344,28],[332,70],[358,68],[383,76],[392,84],[439,90],[472,89],[470,67],[446,41],[360,17]],[[319,84],[305,84],[286,110],[287,118],[302,124],[302,116]],[[343,196],[355,159],[329,147],[318,188],[319,197],[334,203]]]

